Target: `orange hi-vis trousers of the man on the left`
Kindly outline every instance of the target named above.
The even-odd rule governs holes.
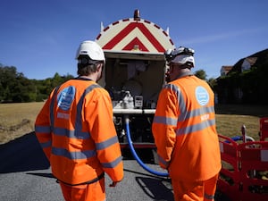
[[[105,178],[91,184],[71,186],[60,181],[66,201],[105,201]]]

